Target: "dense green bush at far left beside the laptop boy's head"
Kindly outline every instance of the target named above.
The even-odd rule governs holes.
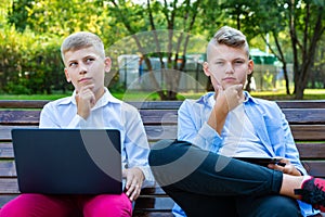
[[[0,91],[5,93],[51,93],[70,90],[64,79],[60,39],[36,37],[28,29],[0,29]],[[5,38],[5,40],[4,40]]]

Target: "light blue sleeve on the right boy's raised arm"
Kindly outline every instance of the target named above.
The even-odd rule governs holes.
[[[220,149],[222,138],[202,117],[204,108],[204,105],[199,106],[190,100],[182,103],[178,115],[178,139],[216,153]]]

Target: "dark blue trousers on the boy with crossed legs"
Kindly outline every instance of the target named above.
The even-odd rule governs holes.
[[[148,157],[159,186],[187,216],[301,216],[294,199],[278,194],[283,174],[161,140]]]

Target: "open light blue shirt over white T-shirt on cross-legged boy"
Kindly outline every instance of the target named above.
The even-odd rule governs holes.
[[[214,153],[227,153],[230,156],[247,156],[249,153],[255,153],[253,156],[282,156],[288,158],[301,174],[306,175],[307,171],[300,163],[288,122],[277,104],[272,101],[255,99],[248,92],[245,92],[245,95],[243,116],[239,116],[242,122],[233,124],[238,111],[234,114],[231,112],[226,117],[221,136],[207,124],[216,102],[214,92],[209,92],[198,100],[185,100],[179,110],[178,139]],[[227,141],[231,131],[229,128],[234,126],[239,128],[238,131],[246,137],[245,141],[249,142],[245,143],[240,140],[234,142],[234,137]],[[248,131],[250,133],[246,133]],[[227,149],[227,144],[236,145]],[[231,150],[231,152],[224,150]],[[302,216],[318,213],[313,210],[309,204],[300,201],[298,203]],[[173,207],[173,214],[177,217],[185,216],[178,204]]]

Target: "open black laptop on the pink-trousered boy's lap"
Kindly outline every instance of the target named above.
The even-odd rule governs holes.
[[[22,193],[120,194],[120,132],[116,129],[13,129]]]

